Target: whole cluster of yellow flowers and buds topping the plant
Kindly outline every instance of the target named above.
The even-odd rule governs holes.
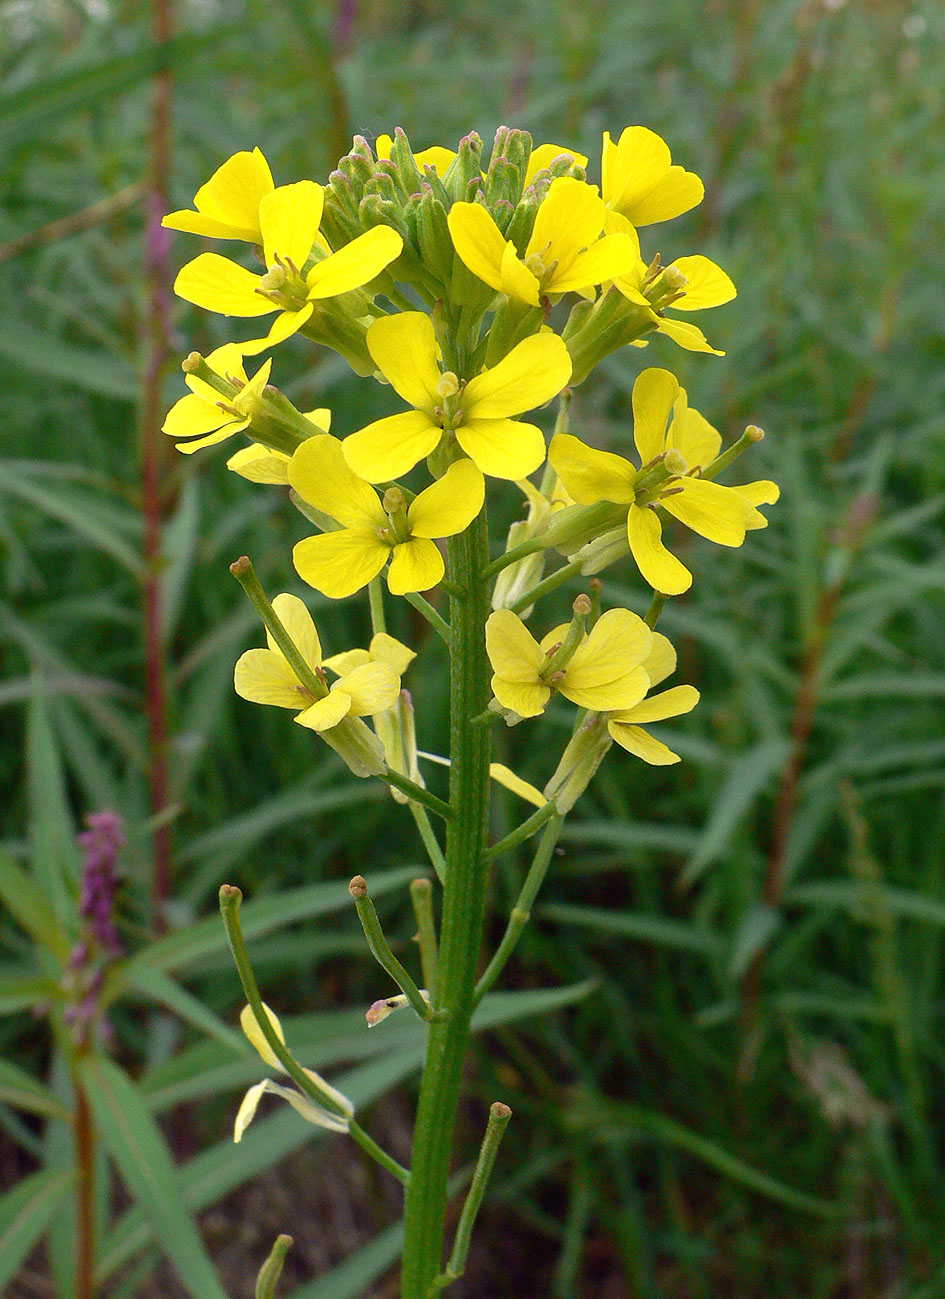
[[[662,365],[638,374],[632,421],[616,446],[572,431],[572,392],[608,355],[650,344],[660,361],[673,346],[723,355],[685,317],[736,295],[708,257],[641,251],[641,231],[646,242],[646,227],[703,195],[664,140],[643,126],[616,140],[604,132],[598,183],[589,166],[568,145],[534,145],[507,127],[487,158],[474,132],[456,149],[415,153],[395,130],[373,148],[356,136],[324,183],[277,184],[259,149],[237,153],[192,209],[165,218],[172,229],[237,244],[183,266],[175,282],[183,299],[235,321],[273,317],[265,334],[237,325],[253,336],[187,357],[190,391],[165,431],[183,452],[243,434],[248,444],[229,468],[287,490],[309,525],[292,549],[300,581],[329,600],[365,587],[369,595],[369,648],[324,657],[303,600],[282,594],[269,603],[248,560],[237,561],[268,638],[268,648],[237,662],[237,692],[291,709],[356,776],[386,779],[419,817],[434,865],[438,850],[420,808],[447,805],[420,777],[413,704],[402,688],[415,652],[386,633],[387,594],[408,600],[447,643],[442,600],[424,592],[448,595],[451,620],[472,587],[480,609],[491,605],[464,651],[480,653],[485,683],[476,644],[485,646],[493,673],[491,704],[474,725],[495,717],[515,725],[560,700],[575,709],[543,792],[507,768],[493,773],[534,801],[536,814],[551,814],[549,805],[563,814],[612,744],[645,763],[679,761],[645,729],[698,700],[685,685],[653,694],[676,666],[654,624],[666,598],[693,581],[673,553],[677,525],[737,547],[766,526],[759,507],[777,500],[767,479],[716,481],[762,433],[749,426],[723,449],[721,435]],[[240,243],[251,246],[255,268]],[[389,413],[339,438],[328,410],[298,410],[272,385],[268,355],[291,335],[333,348],[368,383],[387,386]],[[252,374],[247,357],[261,357]],[[549,439],[533,412],[555,399]],[[484,538],[489,494],[512,490],[526,517],[512,525],[504,552],[481,552],[476,572],[445,561],[445,549],[460,553],[464,535]],[[555,624],[534,611],[558,586],[624,561],[641,585],[641,608],[649,601],[646,617],[602,609],[593,578],[569,622],[541,637],[529,630],[533,616]],[[545,575],[549,565],[556,566]],[[286,1095],[277,1085],[260,1087]],[[240,1125],[261,1090],[251,1095]],[[331,1121],[344,1124],[338,1115]]]

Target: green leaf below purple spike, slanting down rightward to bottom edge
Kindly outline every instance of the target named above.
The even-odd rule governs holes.
[[[194,1299],[227,1299],[198,1230],[157,1124],[131,1079],[112,1060],[86,1056],[79,1072],[96,1125],[122,1179]]]

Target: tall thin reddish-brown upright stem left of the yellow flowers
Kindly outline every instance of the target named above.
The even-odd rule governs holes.
[[[172,0],[151,0],[151,36],[156,44],[170,39]],[[140,395],[140,475],[144,516],[144,695],[149,751],[151,814],[157,818],[153,831],[152,921],[164,926],[164,904],[170,895],[170,825],[164,820],[168,807],[168,692],[164,672],[164,633],[161,626],[161,531],[165,500],[161,482],[166,477],[166,439],[161,434],[161,375],[168,361],[170,336],[170,246],[161,217],[168,210],[170,179],[170,69],[164,66],[151,79],[151,130],[148,132],[148,171],[146,181],[144,359]]]

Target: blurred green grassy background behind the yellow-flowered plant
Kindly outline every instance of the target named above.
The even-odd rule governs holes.
[[[731,273],[698,321],[727,355],[625,349],[572,431],[628,448],[633,378],[664,365],[727,439],[766,429],[727,481],[783,498],[741,551],[688,534],[695,585],[660,620],[702,691],[662,731],[682,763],[611,755],[474,1039],[460,1161],[489,1102],[515,1118],[465,1293],[945,1295],[942,6],[1,0],[0,66],[3,1293],[86,1299],[77,1212],[109,1299],[248,1295],[282,1230],[292,1299],[396,1293],[390,1178],[287,1107],[230,1143],[260,1064],[222,882],[296,1053],[407,1157],[419,1038],[365,1035],[385,987],[342,885],[376,881],[412,960],[422,856],[382,790],[233,692],[260,633],[227,565],[303,594],[308,527],[225,472],[233,448],[159,431],[181,356],[230,335],[172,297],[204,246],[156,218],[253,145],[277,183],[324,181],[354,132],[420,149],[508,123],[597,181],[602,130],[642,123],[706,181],[645,257]],[[276,365],[337,433],[390,409],[300,339]],[[629,565],[603,577],[645,607]],[[361,643],[367,608],[304,594],[329,651]],[[442,752],[435,644],[408,685]],[[542,783],[536,734],[497,756]],[[92,960],[74,837],[101,811],[125,842]],[[525,866],[503,861],[493,939]]]

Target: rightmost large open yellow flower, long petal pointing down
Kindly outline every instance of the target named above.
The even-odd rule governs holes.
[[[672,421],[667,429],[667,420]],[[654,505],[662,505],[694,533],[720,546],[741,546],[745,533],[766,527],[755,507],[779,498],[775,483],[723,487],[699,474],[721,444],[719,434],[686,404],[685,391],[668,370],[649,369],[633,385],[633,440],[642,469],[608,451],[585,446],[571,434],[551,439],[549,459],[581,505],[599,500],[628,505],[627,539],[640,572],[654,590],[680,595],[692,574],[662,542]]]

